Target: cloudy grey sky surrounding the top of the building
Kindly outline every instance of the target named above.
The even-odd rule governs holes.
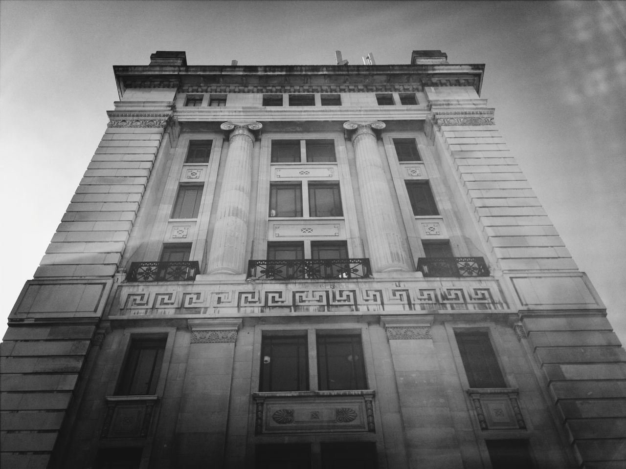
[[[0,1],[0,335],[117,96],[113,65],[485,63],[482,97],[626,340],[626,3]]]

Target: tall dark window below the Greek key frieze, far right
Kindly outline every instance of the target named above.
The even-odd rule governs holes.
[[[454,331],[470,388],[505,388],[496,354],[485,331]]]

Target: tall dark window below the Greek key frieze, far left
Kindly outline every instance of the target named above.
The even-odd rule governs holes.
[[[132,339],[116,395],[153,395],[163,364],[165,338]]]

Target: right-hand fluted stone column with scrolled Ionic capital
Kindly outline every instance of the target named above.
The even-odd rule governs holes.
[[[372,270],[406,271],[409,270],[407,253],[403,250],[401,231],[374,133],[374,129],[384,127],[381,121],[344,123],[344,129],[354,131],[351,140]]]

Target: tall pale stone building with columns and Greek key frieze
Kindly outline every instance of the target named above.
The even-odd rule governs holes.
[[[626,465],[626,354],[484,66],[115,66],[2,343],[3,468]]]

